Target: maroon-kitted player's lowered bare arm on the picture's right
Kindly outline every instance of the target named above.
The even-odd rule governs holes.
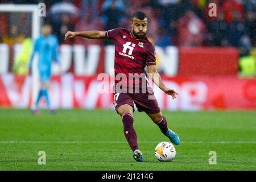
[[[164,85],[160,74],[158,73],[158,70],[156,69],[156,65],[148,65],[148,75],[150,75],[152,81],[158,86],[161,90],[163,90],[164,93],[167,95],[172,96],[172,99],[176,98],[176,95],[178,95],[174,89],[167,88],[166,85]]]

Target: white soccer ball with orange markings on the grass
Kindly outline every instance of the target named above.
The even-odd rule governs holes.
[[[160,161],[171,161],[175,155],[175,147],[170,142],[161,142],[155,147],[156,159]]]

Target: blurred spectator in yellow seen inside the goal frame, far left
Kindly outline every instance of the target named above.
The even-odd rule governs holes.
[[[9,33],[2,36],[2,43],[6,43],[9,45],[21,44],[24,39],[25,35],[20,34],[19,27],[15,24],[12,24],[9,27]]]

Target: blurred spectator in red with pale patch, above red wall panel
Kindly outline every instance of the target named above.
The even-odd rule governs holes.
[[[204,22],[192,10],[188,10],[177,22],[178,45],[202,46],[204,32]]]

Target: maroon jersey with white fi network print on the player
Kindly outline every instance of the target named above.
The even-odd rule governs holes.
[[[126,82],[127,86],[136,84],[136,80],[129,80],[131,75],[146,75],[144,68],[146,65],[156,65],[155,47],[148,41],[146,36],[142,39],[136,39],[131,31],[124,28],[114,28],[106,31],[106,37],[115,41],[115,85],[119,82]],[[118,74],[126,76],[124,80],[118,78]],[[130,83],[129,83],[130,82]],[[141,80],[139,81],[142,82]],[[141,87],[141,86],[140,86]]]

